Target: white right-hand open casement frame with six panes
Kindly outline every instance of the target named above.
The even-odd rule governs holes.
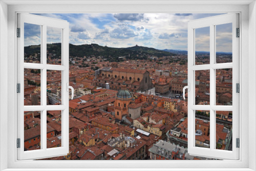
[[[232,24],[232,62],[216,62],[216,26]],[[210,63],[196,65],[196,29],[209,27]],[[211,156],[217,159],[239,159],[239,148],[236,147],[236,138],[239,138],[239,94],[236,93],[236,83],[239,82],[239,37],[236,37],[236,28],[239,28],[239,14],[230,13],[212,17],[200,18],[188,22],[188,153],[194,156]],[[216,105],[216,70],[232,68],[232,105]],[[197,105],[195,95],[195,72],[210,71],[210,104]],[[241,92],[242,93],[242,92]],[[210,148],[197,147],[195,144],[196,110],[210,112]],[[216,111],[232,111],[232,151],[216,149]],[[200,127],[200,125],[199,125]],[[201,143],[201,142],[200,142]]]

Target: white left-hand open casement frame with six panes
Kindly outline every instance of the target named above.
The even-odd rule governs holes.
[[[40,63],[24,62],[24,24],[29,23],[41,29]],[[17,138],[20,148],[17,148],[17,159],[41,159],[54,156],[66,156],[69,153],[69,23],[66,20],[49,18],[27,13],[17,14],[17,27],[20,37],[17,38],[17,83],[20,83],[20,93],[17,94]],[[47,27],[61,31],[61,65],[47,64]],[[40,74],[40,104],[24,105],[24,69],[39,69]],[[61,104],[47,105],[47,70],[61,71]],[[61,111],[61,147],[47,148],[47,111]],[[40,149],[24,151],[24,111],[40,111]]]

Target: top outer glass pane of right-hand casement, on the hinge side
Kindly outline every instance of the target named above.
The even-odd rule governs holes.
[[[216,26],[216,63],[232,62],[232,23]]]

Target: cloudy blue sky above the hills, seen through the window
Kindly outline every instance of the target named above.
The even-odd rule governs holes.
[[[219,14],[91,13],[37,14],[67,20],[70,43],[125,48],[187,50],[187,22]],[[231,52],[231,24],[217,27],[217,51]],[[59,42],[60,30],[48,28],[47,42]],[[40,27],[25,25],[25,46],[40,44]],[[209,28],[196,30],[196,50],[209,51]]]

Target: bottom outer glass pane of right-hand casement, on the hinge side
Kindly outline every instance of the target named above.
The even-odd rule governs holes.
[[[232,111],[216,111],[216,149],[232,151]]]

